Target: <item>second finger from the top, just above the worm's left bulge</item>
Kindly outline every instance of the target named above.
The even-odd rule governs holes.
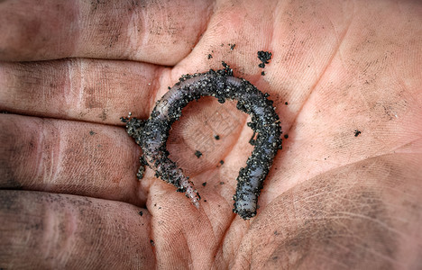
[[[117,124],[146,118],[162,68],[131,61],[66,59],[0,63],[0,110]]]

